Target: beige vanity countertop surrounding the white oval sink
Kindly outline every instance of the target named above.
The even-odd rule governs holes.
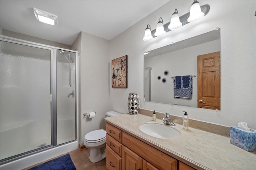
[[[195,169],[256,170],[255,152],[230,144],[229,137],[194,128],[184,131],[176,124],[172,127],[180,132],[179,138],[158,139],[140,131],[140,125],[153,122],[152,117],[142,114],[106,117],[105,121]],[[161,119],[155,122],[163,123]]]

